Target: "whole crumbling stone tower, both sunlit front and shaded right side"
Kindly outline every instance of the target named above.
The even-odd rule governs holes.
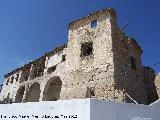
[[[113,9],[104,9],[69,24],[67,71],[78,76],[73,82],[87,82],[86,96],[147,104],[142,49],[116,18]]]

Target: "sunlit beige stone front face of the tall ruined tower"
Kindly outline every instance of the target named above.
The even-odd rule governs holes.
[[[73,82],[87,83],[86,94],[99,99],[115,99],[112,37],[115,23],[115,11],[107,9],[69,24],[67,71],[78,76]],[[119,95],[122,101],[123,93]]]

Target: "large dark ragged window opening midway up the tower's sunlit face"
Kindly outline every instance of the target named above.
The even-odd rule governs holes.
[[[89,56],[93,53],[93,43],[86,42],[81,44],[81,57]]]

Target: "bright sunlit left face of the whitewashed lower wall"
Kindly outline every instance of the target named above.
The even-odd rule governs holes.
[[[90,100],[1,104],[0,120],[90,120]]]

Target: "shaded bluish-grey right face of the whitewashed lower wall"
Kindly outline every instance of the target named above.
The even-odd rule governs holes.
[[[91,120],[160,120],[160,101],[152,105],[91,100]]]

